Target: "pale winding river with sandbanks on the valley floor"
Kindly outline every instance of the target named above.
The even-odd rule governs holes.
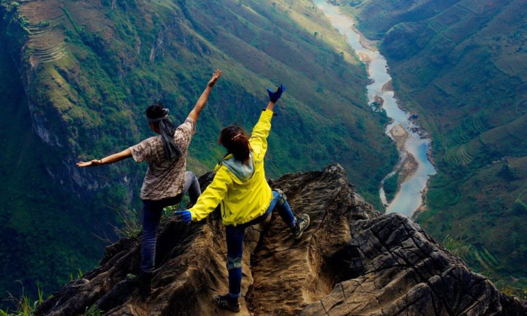
[[[353,28],[352,18],[342,14],[339,7],[325,0],[313,0],[313,3],[329,18],[331,25],[346,36],[348,44],[365,62],[370,79],[373,81],[367,87],[368,101],[370,104],[382,103],[387,116],[392,120],[386,127],[386,133],[396,141],[400,160],[394,171],[387,174],[385,180],[398,172],[400,185],[398,185],[394,199],[390,202],[387,202],[382,187],[384,180],[381,183],[379,194],[387,213],[395,212],[411,216],[422,206],[426,183],[429,177],[436,173],[433,164],[428,159],[430,139],[411,121],[410,114],[398,106],[393,88],[391,88],[391,77],[385,57],[370,45],[363,44],[365,40],[361,42],[361,34]]]

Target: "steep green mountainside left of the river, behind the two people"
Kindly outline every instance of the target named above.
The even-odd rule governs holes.
[[[101,256],[115,211],[138,209],[146,166],[77,170],[151,135],[161,99],[181,122],[215,68],[224,75],[198,122],[188,166],[211,169],[220,127],[248,130],[265,88],[285,83],[268,176],[329,162],[378,203],[396,163],[385,116],[368,108],[367,74],[310,1],[29,0],[0,5],[0,293],[44,293]],[[118,223],[117,223],[118,224]]]

